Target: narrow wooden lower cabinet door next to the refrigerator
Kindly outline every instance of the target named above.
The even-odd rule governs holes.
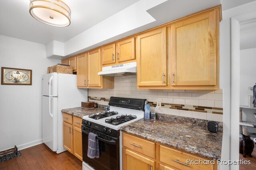
[[[63,122],[63,147],[73,153],[72,125]]]

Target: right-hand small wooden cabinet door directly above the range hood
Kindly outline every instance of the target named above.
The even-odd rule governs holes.
[[[118,42],[117,48],[116,58],[118,62],[135,59],[135,37]]]

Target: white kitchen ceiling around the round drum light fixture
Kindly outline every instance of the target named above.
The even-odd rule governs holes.
[[[29,14],[30,0],[0,0],[0,35],[41,44],[65,42],[139,0],[63,0],[71,8],[71,25],[53,27]]]

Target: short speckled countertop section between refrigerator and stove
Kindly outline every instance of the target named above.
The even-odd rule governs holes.
[[[98,108],[94,109],[92,108],[86,108],[86,107],[75,107],[70,109],[62,109],[62,113],[67,113],[70,115],[73,115],[75,117],[82,118],[83,116],[94,114],[94,113],[100,113],[105,111],[104,105],[98,105]]]

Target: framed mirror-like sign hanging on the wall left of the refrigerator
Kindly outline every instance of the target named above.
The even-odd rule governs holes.
[[[32,70],[1,67],[1,85],[32,85]]]

